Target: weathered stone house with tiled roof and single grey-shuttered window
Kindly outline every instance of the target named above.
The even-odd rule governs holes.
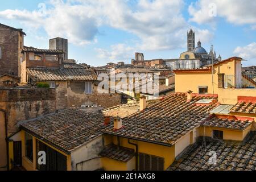
[[[57,109],[127,103],[124,94],[98,93],[97,76],[90,68],[27,68],[27,73],[31,82],[48,82],[56,88]]]

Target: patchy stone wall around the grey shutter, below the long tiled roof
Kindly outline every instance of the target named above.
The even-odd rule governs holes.
[[[67,107],[81,107],[81,105],[101,105],[104,108],[122,104],[121,94],[101,94],[97,92],[97,85],[92,86],[93,93],[85,94],[85,82],[56,82],[57,109]]]

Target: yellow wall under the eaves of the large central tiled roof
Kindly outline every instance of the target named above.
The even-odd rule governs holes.
[[[128,143],[127,138],[120,137],[120,146],[126,148],[133,148],[134,151],[136,147]],[[115,136],[105,135],[105,145],[110,143],[118,144],[118,139]],[[164,158],[164,169],[167,169],[175,159],[175,146],[162,146],[160,144],[148,143],[139,140],[130,140],[131,143],[138,144],[138,153],[148,154]]]

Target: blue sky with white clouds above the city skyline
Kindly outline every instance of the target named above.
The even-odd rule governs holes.
[[[223,59],[241,56],[256,65],[256,1],[251,0],[10,0],[1,1],[0,23],[23,28],[26,46],[48,48],[69,40],[69,59],[89,65],[174,59],[187,51],[187,31]]]

